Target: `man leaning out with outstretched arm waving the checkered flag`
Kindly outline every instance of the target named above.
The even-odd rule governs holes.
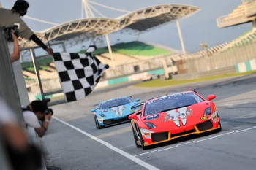
[[[20,16],[26,15],[28,8],[29,3],[23,0],[15,1],[15,4],[11,10],[0,8],[0,25],[2,27],[9,28],[15,26],[15,24],[18,24],[20,36],[34,41],[37,43],[37,45],[42,47],[42,49],[46,50],[48,54],[53,55],[53,49],[48,48],[20,18]]]

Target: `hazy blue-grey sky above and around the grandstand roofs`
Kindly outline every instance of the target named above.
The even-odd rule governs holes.
[[[67,23],[70,20],[78,20],[81,18],[81,1],[82,0],[27,0],[29,9],[27,16],[37,18],[39,20],[47,20],[52,23]],[[241,4],[241,0],[91,0],[108,7],[123,9],[127,11],[136,11],[143,7],[150,7],[158,4],[187,4],[200,7],[200,11],[196,12],[189,18],[179,20],[181,34],[183,36],[184,47],[187,53],[195,53],[203,50],[200,44],[206,43],[208,47],[230,42],[241,36],[246,31],[252,30],[252,23],[245,23],[238,26],[227,28],[218,28],[216,19],[222,15],[227,15]],[[0,0],[1,6],[11,9],[15,0]],[[99,7],[91,4],[108,18],[116,18],[125,15],[124,12],[118,12],[112,9]],[[94,12],[96,17],[101,17]],[[85,16],[85,15],[84,15]],[[1,17],[1,16],[0,16]],[[27,25],[33,31],[43,31],[53,25],[41,23],[28,18],[23,18]],[[168,23],[160,28],[148,31],[138,35],[128,34],[110,34],[110,44],[118,42],[153,42],[181,51],[181,42],[178,36],[178,28],[176,23]],[[76,47],[67,49],[69,52],[80,50],[85,45],[80,44]]]

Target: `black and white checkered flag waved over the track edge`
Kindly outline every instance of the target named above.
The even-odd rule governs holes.
[[[57,72],[61,81],[66,101],[77,101],[91,93],[99,82],[100,77],[108,69],[92,52],[95,46],[90,46],[86,54],[54,53]]]

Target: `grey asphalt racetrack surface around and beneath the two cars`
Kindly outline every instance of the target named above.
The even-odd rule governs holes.
[[[255,170],[256,74],[164,88],[132,84],[94,90],[80,101],[53,106],[54,117],[42,142],[48,169]],[[97,129],[91,109],[109,98],[148,98],[196,90],[213,101],[222,131],[176,139],[147,150],[135,147],[130,123]]]

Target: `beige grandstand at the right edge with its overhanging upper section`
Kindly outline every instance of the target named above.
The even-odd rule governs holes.
[[[255,68],[255,49],[256,49],[256,1],[242,1],[236,9],[230,14],[217,18],[217,26],[225,28],[227,26],[236,26],[238,24],[252,22],[252,30],[246,31],[230,42],[221,45],[209,47],[196,53],[183,56],[178,61],[179,74],[192,74],[198,72],[208,72],[217,69],[231,68],[227,72],[240,72],[240,66],[243,70],[251,71]],[[239,66],[238,66],[239,65]],[[227,72],[221,72],[227,73]],[[187,77],[185,77],[187,79]]]

